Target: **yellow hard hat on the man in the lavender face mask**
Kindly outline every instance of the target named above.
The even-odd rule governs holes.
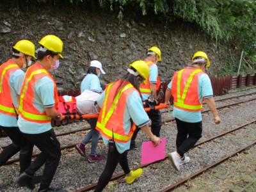
[[[59,54],[59,56],[63,58],[63,56],[61,55],[63,49],[63,42],[60,38],[58,38],[58,36],[46,35],[38,43],[46,47],[49,51]]]

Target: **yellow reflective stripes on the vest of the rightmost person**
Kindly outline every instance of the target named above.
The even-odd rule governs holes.
[[[180,95],[180,89],[181,89],[180,83],[181,83],[181,80],[182,80],[181,76],[182,76],[183,71],[184,71],[184,69],[182,69],[178,72],[178,76],[177,76],[177,102],[173,101],[173,106],[175,106],[177,108],[180,108],[180,109],[188,109],[189,111],[190,110],[191,111],[200,111],[203,107],[202,104],[200,104],[200,105],[188,105],[188,104],[184,104],[184,100],[186,99],[188,88],[189,88],[189,85],[191,84],[191,81],[192,81],[193,77],[198,72],[202,72],[202,70],[196,69],[190,74],[190,76],[188,78],[188,81],[186,82],[186,85],[184,86],[183,93],[182,93],[182,95]]]

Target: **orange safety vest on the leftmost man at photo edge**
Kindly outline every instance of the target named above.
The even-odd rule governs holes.
[[[16,116],[18,108],[13,109],[12,95],[9,86],[10,73],[20,69],[17,63],[8,60],[0,66],[0,113]]]

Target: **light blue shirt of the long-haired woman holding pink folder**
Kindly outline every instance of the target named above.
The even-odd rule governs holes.
[[[100,108],[102,108],[102,104],[104,103],[104,98],[105,98],[105,91],[100,95],[100,97],[97,100]],[[131,130],[131,120],[130,120],[131,118],[134,124],[138,125],[138,127],[143,127],[144,125],[147,125],[149,123],[149,118],[143,108],[140,95],[135,90],[134,92],[130,93],[127,96],[127,100],[126,100],[126,105],[124,110],[124,120],[123,120],[124,130],[126,134],[128,134],[129,131]],[[104,141],[104,144],[108,146],[108,141],[109,141],[108,138],[102,136],[102,139]],[[122,154],[123,152],[125,152],[125,150],[129,150],[131,140],[129,140],[127,143],[120,143],[120,142],[115,142],[115,143],[116,143],[116,149],[120,154]]]

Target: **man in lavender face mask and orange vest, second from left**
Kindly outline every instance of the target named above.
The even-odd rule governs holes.
[[[51,119],[62,120],[58,109],[58,92],[49,70],[60,65],[63,42],[58,36],[47,35],[39,42],[38,60],[26,71],[20,93],[18,125],[22,134],[41,153],[17,179],[18,184],[35,188],[31,178],[43,164],[44,173],[38,191],[63,191],[52,189],[50,184],[60,162],[60,142],[51,127]]]

